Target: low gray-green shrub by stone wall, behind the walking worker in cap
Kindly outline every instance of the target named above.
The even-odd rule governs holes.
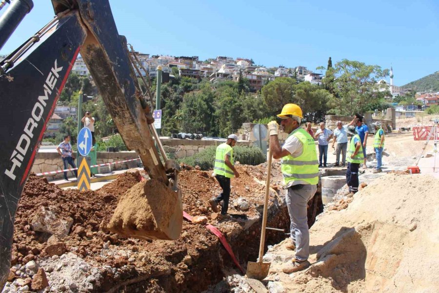
[[[179,159],[180,163],[190,166],[200,166],[201,170],[208,170],[214,167],[216,146],[210,146],[191,157]],[[235,162],[239,161],[244,165],[259,165],[265,162],[265,156],[257,146],[235,146],[233,148]]]

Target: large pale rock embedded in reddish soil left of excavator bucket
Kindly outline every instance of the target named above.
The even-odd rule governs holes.
[[[46,232],[62,238],[68,235],[72,224],[71,217],[62,217],[58,208],[49,206],[40,208],[31,219],[30,226],[34,231]]]

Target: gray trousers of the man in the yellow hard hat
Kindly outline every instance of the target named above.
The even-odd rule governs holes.
[[[309,257],[307,204],[316,191],[317,185],[293,185],[287,189],[285,194],[291,220],[291,240],[296,245],[296,259],[298,261],[305,261]]]

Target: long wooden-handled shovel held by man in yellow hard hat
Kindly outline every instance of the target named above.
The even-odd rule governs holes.
[[[271,263],[262,262],[264,254],[265,242],[265,226],[267,225],[267,209],[268,209],[268,194],[270,192],[270,175],[271,175],[271,149],[268,148],[268,162],[267,162],[267,181],[265,182],[265,202],[264,213],[262,215],[262,229],[260,230],[259,243],[259,261],[247,263],[247,278],[263,280],[268,276]]]

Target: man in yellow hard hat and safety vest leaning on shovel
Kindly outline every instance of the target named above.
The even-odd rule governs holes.
[[[302,109],[296,104],[286,104],[278,117],[282,119],[280,126],[283,131],[289,134],[282,147],[279,145],[279,125],[276,121],[268,124],[268,131],[273,158],[282,158],[281,171],[287,188],[285,201],[290,215],[291,237],[286,240],[286,249],[296,251],[296,258],[282,271],[292,273],[310,265],[307,203],[317,191],[319,161],[314,139],[300,127]]]

